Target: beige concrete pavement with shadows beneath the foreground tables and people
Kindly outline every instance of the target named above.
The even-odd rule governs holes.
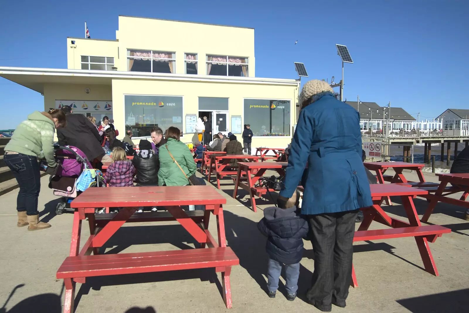
[[[406,173],[409,179],[416,175]],[[429,181],[437,181],[431,174]],[[257,230],[262,210],[252,212],[231,198],[231,180],[219,192],[227,197],[224,206],[228,244],[240,258],[231,274],[232,313],[319,312],[301,298],[289,302],[280,288],[277,298],[265,295],[265,238]],[[39,210],[52,228],[28,232],[16,224],[17,190],[0,196],[0,313],[60,313],[63,284],[55,273],[68,255],[72,214],[55,216],[56,197],[42,178]],[[242,193],[245,195],[245,193]],[[384,206],[391,216],[402,217],[404,211],[395,205]],[[258,201],[265,208],[269,201]],[[415,200],[423,214],[427,203]],[[333,312],[469,312],[469,222],[461,219],[462,208],[439,203],[430,222],[452,229],[452,233],[431,243],[439,269],[435,277],[422,270],[422,260],[413,238],[361,242],[355,246],[354,264],[359,288],[350,288],[347,307],[333,307]],[[131,224],[132,225],[132,224]],[[372,227],[380,227],[372,224]],[[86,228],[86,227],[84,227]],[[213,228],[213,225],[212,225]],[[86,232],[86,229],[84,230]],[[211,229],[216,232],[216,229]],[[168,222],[136,224],[122,227],[106,245],[106,252],[132,252],[181,249],[193,246],[183,228]],[[83,244],[83,243],[82,243]],[[313,270],[311,244],[305,243],[301,261],[299,292],[308,287]],[[219,277],[211,270],[123,275],[87,279],[77,284],[76,313],[197,313],[227,312],[219,293]],[[146,308],[146,310],[145,310]]]

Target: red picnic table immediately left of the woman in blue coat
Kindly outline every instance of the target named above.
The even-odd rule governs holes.
[[[236,199],[236,193],[238,192],[238,187],[243,188],[249,192],[252,210],[257,212],[256,208],[256,199],[254,196],[261,197],[268,192],[275,192],[272,188],[267,187],[256,187],[256,183],[264,175],[267,170],[274,170],[280,174],[280,176],[285,175],[285,168],[287,167],[287,162],[240,162],[238,163],[238,172],[236,173],[236,178],[234,179],[234,190],[233,198]],[[257,171],[257,172],[256,172]],[[246,177],[241,177],[242,173],[246,173]],[[254,173],[256,172],[256,173]],[[251,176],[254,174],[254,176]],[[245,182],[244,182],[245,181]]]

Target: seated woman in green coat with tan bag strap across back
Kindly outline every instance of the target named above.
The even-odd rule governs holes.
[[[190,153],[189,147],[179,141],[181,131],[176,127],[169,127],[166,131],[167,143],[159,147],[159,186],[186,186],[190,177],[196,173],[197,165]],[[171,153],[171,154],[170,154]],[[181,169],[174,160],[181,166]],[[185,174],[185,175],[184,175]],[[186,177],[187,176],[187,177]]]

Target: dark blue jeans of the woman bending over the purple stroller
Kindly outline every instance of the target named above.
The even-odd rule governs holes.
[[[37,215],[39,190],[41,190],[41,174],[37,157],[25,154],[6,154],[5,164],[15,175],[20,186],[16,200],[16,210],[26,211],[28,215]]]

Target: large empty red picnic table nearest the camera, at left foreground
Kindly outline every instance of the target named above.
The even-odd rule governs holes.
[[[102,188],[86,189],[70,203],[76,210],[70,254],[57,271],[57,278],[64,280],[66,289],[63,312],[74,311],[75,282],[84,283],[86,277],[210,267],[221,272],[223,299],[227,308],[230,308],[231,266],[239,265],[239,259],[227,247],[222,209],[224,203],[225,197],[210,186],[110,187],[106,188],[106,192]],[[191,204],[203,204],[205,211],[184,211],[181,208],[181,205]],[[166,206],[167,212],[135,213],[141,206]],[[121,210],[118,213],[95,215],[95,208],[102,207],[121,207]],[[211,212],[216,216],[218,243],[208,230]],[[85,219],[88,219],[91,235],[85,238],[86,242],[80,250],[81,227]],[[200,248],[98,254],[98,248],[125,222],[168,220],[177,220],[200,243]]]

